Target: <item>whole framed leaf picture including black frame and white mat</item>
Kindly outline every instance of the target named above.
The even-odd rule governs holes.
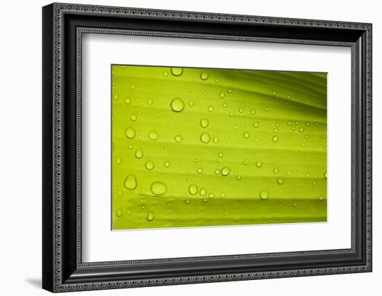
[[[372,24],[42,8],[42,286],[372,271]]]

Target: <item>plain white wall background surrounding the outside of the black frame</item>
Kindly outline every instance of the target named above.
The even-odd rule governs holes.
[[[85,2],[85,0],[83,0]],[[81,3],[83,1],[75,1]],[[89,2],[89,1],[88,1]],[[41,6],[48,1],[2,3],[0,55],[0,278],[2,295],[47,295],[41,274]],[[91,1],[93,4],[199,10],[278,17],[372,22],[374,74],[374,272],[293,279],[204,283],[83,295],[378,295],[382,255],[382,19],[379,1]],[[374,293],[372,292],[374,291]],[[73,293],[71,295],[81,295]]]

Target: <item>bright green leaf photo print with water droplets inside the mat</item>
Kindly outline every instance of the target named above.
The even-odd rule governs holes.
[[[112,65],[113,229],[326,221],[326,74]]]

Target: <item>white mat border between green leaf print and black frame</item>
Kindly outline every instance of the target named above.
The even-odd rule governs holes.
[[[350,248],[350,52],[349,47],[85,35],[83,261]],[[328,222],[110,231],[110,64],[328,72]]]

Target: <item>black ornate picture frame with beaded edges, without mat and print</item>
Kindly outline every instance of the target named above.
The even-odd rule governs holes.
[[[350,47],[351,248],[83,263],[83,33]],[[42,8],[42,37],[42,288],[64,292],[372,271],[372,24],[52,3]]]

